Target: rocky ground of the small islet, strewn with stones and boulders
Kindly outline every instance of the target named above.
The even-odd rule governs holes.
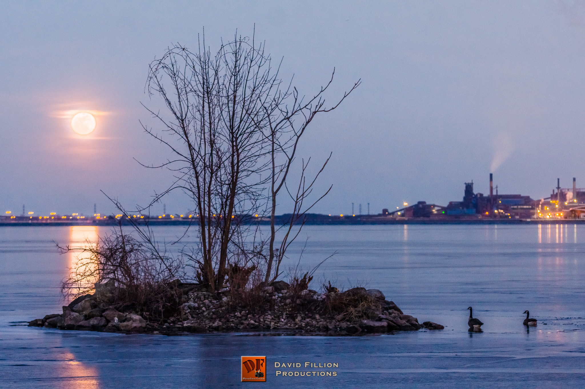
[[[328,293],[307,289],[294,293],[287,289],[290,288],[288,283],[277,281],[263,289],[270,304],[254,311],[230,304],[228,291],[212,294],[196,284],[179,283],[177,286],[181,304],[172,316],[163,320],[149,321],[146,314],[141,316],[133,310],[132,304],[104,302],[107,288],[97,284],[94,295],[77,297],[63,306],[63,313],[32,320],[29,327],[118,334],[266,332],[334,336],[444,328],[432,321],[419,324],[416,317],[402,313],[377,289],[353,288]],[[339,309],[340,302],[345,304],[342,309]]]

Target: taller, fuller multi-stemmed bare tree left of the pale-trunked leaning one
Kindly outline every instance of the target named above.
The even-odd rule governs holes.
[[[195,258],[211,291],[223,286],[230,240],[245,222],[236,213],[253,212],[261,196],[262,126],[279,83],[263,44],[237,36],[215,55],[203,39],[198,52],[176,45],[150,65],[147,90],[162,97],[170,117],[147,108],[166,134],[143,128],[176,156],[149,166],[176,173],[175,183],[154,201],[180,189],[194,202],[200,241]]]

